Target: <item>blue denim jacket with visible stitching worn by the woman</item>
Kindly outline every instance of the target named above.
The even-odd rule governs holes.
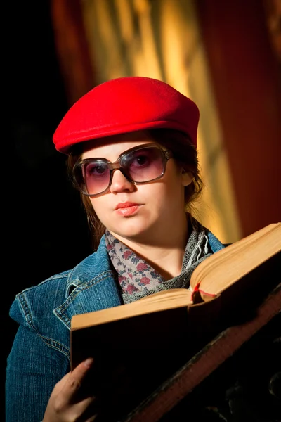
[[[213,252],[223,244],[207,231]],[[70,371],[72,316],[122,305],[105,247],[70,271],[16,295],[10,316],[18,324],[6,367],[6,422],[39,422],[55,383]]]

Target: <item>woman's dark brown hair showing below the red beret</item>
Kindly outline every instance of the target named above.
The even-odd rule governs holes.
[[[155,142],[171,150],[178,165],[183,167],[186,172],[192,174],[192,182],[185,186],[185,210],[191,214],[193,204],[201,196],[204,186],[200,176],[197,149],[185,134],[174,129],[150,129],[145,131],[145,133]],[[67,171],[71,179],[73,167],[81,159],[81,154],[82,146],[81,143],[78,143],[72,147],[72,151],[68,155]],[[74,181],[73,184],[77,188]],[[81,201],[86,212],[89,229],[91,230],[93,249],[96,250],[100,243],[100,238],[105,233],[105,226],[100,222],[96,212],[93,210],[89,196],[81,193]]]

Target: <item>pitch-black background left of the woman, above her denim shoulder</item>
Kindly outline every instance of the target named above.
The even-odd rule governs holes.
[[[8,3],[2,62],[4,371],[17,328],[8,316],[16,293],[74,267],[91,252],[86,215],[67,179],[66,155],[55,151],[52,141],[69,105],[49,1]]]

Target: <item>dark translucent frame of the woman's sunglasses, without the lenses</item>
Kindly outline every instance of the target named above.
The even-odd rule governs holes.
[[[159,174],[159,176],[155,177],[154,179],[150,179],[146,181],[134,181],[133,179],[131,179],[131,177],[129,177],[128,174],[126,174],[126,171],[124,170],[124,168],[122,168],[122,165],[120,164],[120,162],[122,162],[122,158],[124,158],[125,155],[134,153],[135,151],[140,151],[142,149],[148,149],[148,148],[157,148],[161,152],[163,171],[161,174]],[[119,155],[119,157],[117,158],[115,162],[111,162],[109,160],[106,160],[105,158],[86,158],[85,160],[80,160],[73,167],[73,179],[74,179],[75,184],[79,188],[79,191],[83,193],[83,195],[91,196],[91,198],[95,198],[96,196],[100,196],[103,193],[106,193],[107,191],[110,190],[110,186],[112,184],[112,177],[115,170],[120,170],[123,176],[126,177],[128,181],[130,181],[131,183],[135,185],[146,184],[146,183],[150,183],[151,181],[161,179],[161,177],[164,176],[166,172],[166,163],[172,157],[173,157],[173,153],[170,150],[162,146],[159,146],[157,143],[144,143],[143,145],[135,146],[133,148],[129,148],[128,150],[124,151],[124,153]],[[104,191],[99,192],[99,193],[88,193],[86,191],[86,183],[83,177],[83,167],[87,164],[91,164],[92,162],[95,162],[95,163],[100,162],[101,164],[106,164],[108,165],[108,168],[110,170],[110,179],[108,182],[108,186]]]

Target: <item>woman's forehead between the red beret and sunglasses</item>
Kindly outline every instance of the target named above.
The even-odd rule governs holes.
[[[117,160],[120,154],[134,146],[151,143],[154,140],[145,132],[130,132],[122,135],[107,136],[83,143],[82,158],[107,158]]]

